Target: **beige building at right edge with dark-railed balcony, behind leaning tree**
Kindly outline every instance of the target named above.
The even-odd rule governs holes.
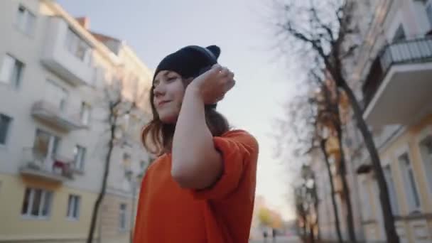
[[[356,1],[355,22],[360,35],[351,41],[360,48],[347,77],[374,134],[396,231],[401,242],[432,242],[432,1]],[[357,239],[384,242],[369,154],[354,120],[345,130]],[[328,176],[319,176],[324,186]],[[335,239],[328,192],[320,195],[320,232]]]

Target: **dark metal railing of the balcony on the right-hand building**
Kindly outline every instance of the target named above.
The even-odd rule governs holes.
[[[392,65],[426,63],[432,61],[432,38],[423,37],[398,41],[382,48],[374,60],[362,87],[365,107],[372,101],[379,85]]]

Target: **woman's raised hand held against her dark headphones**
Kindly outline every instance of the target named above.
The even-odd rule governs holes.
[[[215,104],[223,99],[234,85],[234,73],[228,68],[215,64],[210,70],[190,82],[187,89],[198,92],[204,104]]]

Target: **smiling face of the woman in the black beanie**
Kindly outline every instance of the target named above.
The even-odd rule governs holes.
[[[153,105],[163,123],[174,124],[180,113],[185,85],[177,72],[163,70],[153,80]]]

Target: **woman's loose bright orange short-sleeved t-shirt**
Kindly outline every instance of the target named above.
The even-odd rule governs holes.
[[[257,175],[257,140],[246,131],[213,138],[224,171],[205,190],[180,188],[171,154],[149,168],[141,184],[134,243],[243,243],[249,240]]]

